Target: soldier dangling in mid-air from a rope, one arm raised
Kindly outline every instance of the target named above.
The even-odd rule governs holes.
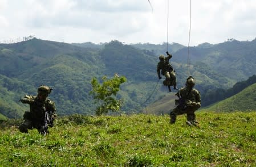
[[[157,64],[157,75],[159,77],[159,80],[162,78],[161,74],[165,76],[165,81],[163,82],[165,86],[168,86],[169,91],[170,86],[173,86],[173,89],[178,89],[176,85],[176,76],[174,69],[172,65],[170,65],[169,60],[172,58],[172,55],[170,55],[168,52],[166,52],[168,55],[167,57],[164,57],[164,55],[159,56],[159,63]],[[161,70],[161,74],[160,74]]]

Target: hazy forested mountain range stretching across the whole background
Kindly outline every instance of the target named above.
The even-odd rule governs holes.
[[[230,54],[233,43],[237,52]],[[254,53],[251,57],[256,56],[254,46],[255,40],[202,44],[190,48],[192,64],[189,69],[196,78],[196,88],[204,95],[210,90],[228,89],[255,74],[255,61],[249,59],[249,53]],[[173,43],[169,48],[173,54],[171,63],[177,72],[178,87],[181,87],[188,77],[186,47]],[[117,95],[124,99],[123,111],[140,112],[165,95],[173,97],[174,93],[168,93],[168,89],[162,86],[162,80],[157,82],[156,65],[160,52],[165,53],[164,44],[155,47],[150,44],[126,45],[119,41],[99,45],[67,44],[35,38],[21,43],[0,44],[0,113],[9,118],[21,117],[29,106],[18,103],[19,98],[25,94],[36,95],[38,86],[48,85],[54,87],[50,99],[55,101],[59,115],[94,114],[95,106],[88,94],[91,78],[110,78],[115,73],[127,77]],[[237,64],[239,56],[246,69]],[[223,63],[217,60],[224,59],[227,65],[236,64],[237,69],[234,71],[231,66],[229,73],[225,72],[227,66],[222,68],[224,72],[216,69]],[[250,73],[246,73],[248,70]]]

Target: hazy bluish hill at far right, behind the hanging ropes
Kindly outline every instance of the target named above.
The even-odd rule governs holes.
[[[173,61],[186,63],[187,48],[173,53]],[[220,44],[202,44],[190,48],[192,64],[197,61],[208,64],[212,70],[232,80],[242,81],[256,73],[256,39],[252,41],[230,40]]]

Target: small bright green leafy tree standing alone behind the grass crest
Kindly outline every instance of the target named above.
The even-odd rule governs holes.
[[[108,111],[118,112],[122,105],[122,99],[116,99],[116,94],[119,91],[121,83],[126,81],[125,77],[120,77],[115,74],[111,79],[106,76],[102,78],[103,83],[100,85],[96,78],[92,78],[92,90],[90,94],[94,97],[95,103],[99,104],[96,108],[96,115],[107,114]]]

